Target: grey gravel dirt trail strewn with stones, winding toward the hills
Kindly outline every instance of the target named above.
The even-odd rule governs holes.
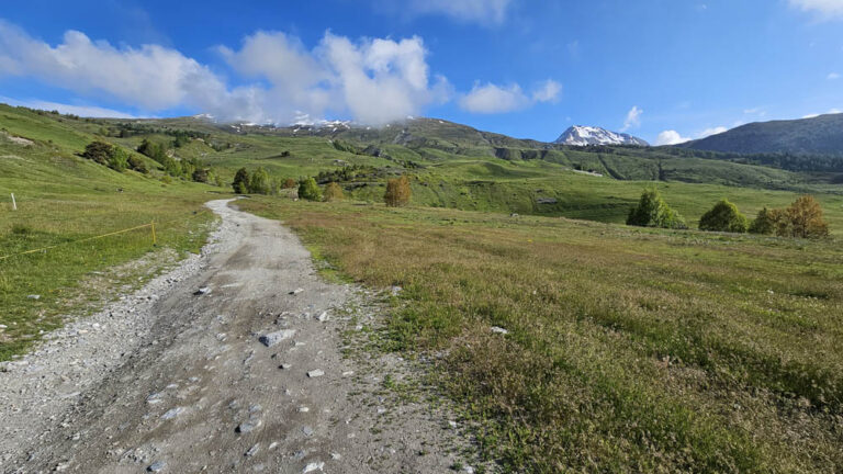
[[[406,374],[401,361],[342,357],[341,332],[376,306],[359,289],[319,279],[280,224],[226,201],[209,206],[223,217],[220,244],[181,281],[162,276],[168,290],[142,291],[147,306],[125,316],[134,325],[115,321],[99,339],[77,330],[91,336],[87,343],[41,350],[0,372],[0,426],[13,427],[2,433],[12,438],[0,443],[0,469],[449,471],[465,444],[453,424],[380,390],[387,372]],[[266,335],[270,347],[259,340]],[[65,347],[81,363],[69,364]]]

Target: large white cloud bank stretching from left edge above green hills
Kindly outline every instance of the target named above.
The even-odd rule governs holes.
[[[115,47],[68,31],[50,46],[0,21],[0,76],[36,78],[81,95],[102,93],[147,112],[187,106],[221,120],[290,123],[326,112],[381,125],[448,99],[432,81],[419,37],[358,42],[326,33],[308,50],[295,37],[259,32],[218,48],[246,83],[229,87],[206,66],[159,45]]]

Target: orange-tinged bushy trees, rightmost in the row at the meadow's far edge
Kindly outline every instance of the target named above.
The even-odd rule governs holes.
[[[803,195],[787,208],[761,210],[750,232],[779,237],[823,238],[829,236],[829,224],[822,216],[820,203],[813,196]]]

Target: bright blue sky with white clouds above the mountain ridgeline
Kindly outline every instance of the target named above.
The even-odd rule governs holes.
[[[843,0],[8,2],[0,101],[670,143],[843,109]]]

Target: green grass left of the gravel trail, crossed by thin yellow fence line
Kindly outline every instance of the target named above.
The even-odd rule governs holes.
[[[76,154],[92,137],[63,122],[0,111],[0,125],[7,131],[0,134],[0,257],[57,246],[0,259],[2,361],[31,347],[42,331],[59,327],[63,316],[139,284],[136,272],[111,270],[155,253],[196,251],[214,218],[203,203],[215,194],[207,185],[167,184],[82,159]],[[157,247],[150,228],[77,242],[154,219]]]

